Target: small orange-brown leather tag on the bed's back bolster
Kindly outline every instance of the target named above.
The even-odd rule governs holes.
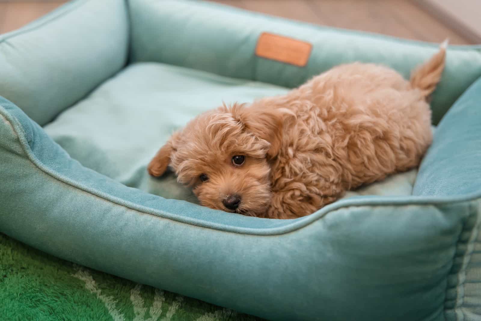
[[[255,54],[262,58],[304,67],[311,50],[312,44],[308,42],[263,32],[257,40]]]

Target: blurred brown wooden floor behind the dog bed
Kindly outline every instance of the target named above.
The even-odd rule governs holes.
[[[0,0],[1,1],[1,0]],[[280,17],[395,37],[452,44],[471,42],[410,0],[212,0]],[[64,1],[0,2],[0,33],[25,25]]]

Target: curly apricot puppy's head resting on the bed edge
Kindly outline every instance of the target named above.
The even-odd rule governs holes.
[[[269,161],[276,157],[287,110],[234,104],[205,112],[170,137],[148,166],[170,165],[203,206],[262,216],[270,202]]]

